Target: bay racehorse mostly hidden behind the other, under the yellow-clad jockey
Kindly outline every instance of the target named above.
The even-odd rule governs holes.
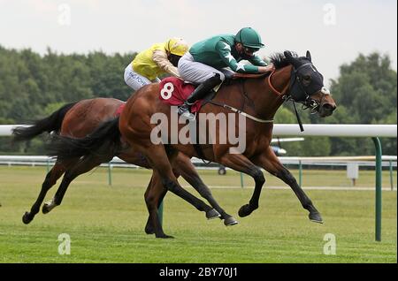
[[[17,127],[13,131],[13,141],[28,141],[35,136],[44,132],[58,132],[61,135],[72,138],[82,138],[89,133],[92,133],[96,127],[104,121],[111,120],[119,115],[124,106],[124,102],[113,98],[95,98],[89,100],[82,100],[78,103],[70,103],[63,106],[61,109],[52,113],[49,117],[38,120],[34,125]],[[124,148],[118,153],[112,147],[104,147],[103,152],[96,153],[88,157],[72,157],[69,159],[57,159],[57,162],[47,174],[42,183],[42,190],[34,202],[29,212],[26,212],[22,217],[25,224],[29,224],[34,216],[39,212],[42,201],[49,191],[51,186],[54,186],[58,178],[65,174],[62,183],[57,189],[54,198],[43,204],[42,213],[47,214],[51,209],[54,209],[61,204],[64,198],[67,187],[71,184],[74,178],[80,174],[88,172],[100,165],[101,163],[109,162],[113,156],[119,156],[127,163],[133,163],[144,168],[150,169],[149,163],[142,157],[140,153],[128,148],[124,144]],[[199,180],[199,176],[195,171],[195,167],[190,162],[188,156],[179,154],[173,163],[173,172],[176,177],[180,175],[185,178],[188,183]],[[197,186],[197,185],[196,185]],[[145,202],[149,210],[149,218],[145,227],[145,232],[148,234],[155,233],[157,238],[170,237],[163,232],[162,225],[159,224],[157,217],[157,208],[165,196],[167,190],[162,185],[157,174],[150,179],[149,186],[145,192]],[[226,225],[237,224],[233,216],[226,214],[226,212],[218,206],[217,201],[212,197],[210,190],[204,184],[201,185],[197,191],[203,195],[205,199],[210,201],[216,209],[211,208],[203,201],[195,198],[194,195],[187,191],[180,189],[173,191],[175,194],[184,194],[197,209],[204,211],[208,219],[220,216],[224,219]],[[156,206],[156,207],[154,207]],[[219,211],[219,212],[218,212]],[[220,215],[221,214],[221,215]]]

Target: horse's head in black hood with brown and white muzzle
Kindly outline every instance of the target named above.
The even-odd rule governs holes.
[[[324,86],[324,76],[312,64],[310,51],[307,51],[306,57],[294,57],[289,51],[285,51],[284,55],[293,65],[290,80],[291,98],[313,112],[318,112],[320,117],[332,115],[336,103]]]

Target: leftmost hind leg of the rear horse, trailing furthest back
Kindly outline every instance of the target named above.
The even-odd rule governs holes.
[[[54,186],[57,183],[57,179],[61,178],[62,174],[65,172],[65,169],[71,164],[73,164],[73,161],[68,163],[57,161],[54,167],[52,167],[52,169],[47,173],[46,178],[42,183],[42,190],[30,209],[30,212],[26,212],[24,216],[22,216],[22,221],[24,224],[29,224],[34,219],[34,216],[39,212],[42,201],[44,200],[51,186]]]

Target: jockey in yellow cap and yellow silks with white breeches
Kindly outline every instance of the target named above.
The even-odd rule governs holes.
[[[167,42],[154,44],[135,56],[125,70],[126,84],[135,91],[160,81],[158,76],[171,74],[180,77],[177,65],[180,57],[188,51],[188,44],[181,38],[172,38]]]

